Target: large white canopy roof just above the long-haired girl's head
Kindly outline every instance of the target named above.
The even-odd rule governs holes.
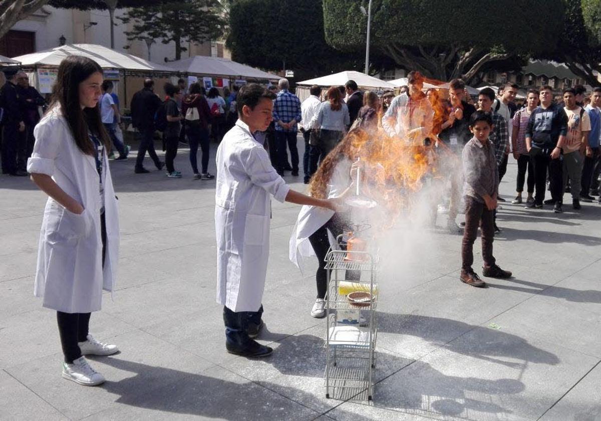
[[[14,57],[23,67],[57,67],[69,55],[82,55],[96,61],[103,69],[129,70],[132,72],[169,72],[173,70],[162,64],[152,63],[135,55],[118,52],[102,45],[68,44]]]

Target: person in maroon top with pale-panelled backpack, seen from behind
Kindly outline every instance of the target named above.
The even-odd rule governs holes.
[[[186,120],[186,134],[190,146],[190,165],[195,180],[210,180],[215,176],[209,174],[209,121],[211,118],[209,103],[204,97],[204,88],[200,84],[190,85],[190,94],[182,102],[182,114]],[[203,173],[198,173],[198,145],[203,152],[201,162]]]

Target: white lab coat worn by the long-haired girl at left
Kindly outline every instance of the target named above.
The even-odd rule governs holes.
[[[102,290],[112,291],[117,277],[119,222],[117,200],[106,153],[103,156],[106,257],[102,266],[100,180],[93,156],[82,153],[59,107],[34,129],[29,173],[47,174],[84,207],[73,214],[48,198],[41,224],[34,295],[43,306],[65,313],[100,310]]]

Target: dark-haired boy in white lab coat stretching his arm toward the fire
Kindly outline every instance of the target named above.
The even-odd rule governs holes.
[[[281,202],[337,206],[291,190],[255,139],[255,133],[265,131],[272,121],[273,99],[275,95],[258,84],[240,89],[239,120],[219,144],[216,158],[217,302],[224,306],[225,348],[245,357],[265,357],[273,351],[251,339],[263,327],[270,195]]]

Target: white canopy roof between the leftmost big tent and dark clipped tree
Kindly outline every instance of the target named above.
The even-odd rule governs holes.
[[[263,72],[246,64],[231,61],[222,57],[206,57],[197,55],[195,57],[185,58],[183,60],[172,61],[169,63],[171,70],[182,73],[191,73],[194,75],[206,76],[227,76],[243,79],[268,79],[275,81],[280,76],[272,73]]]

